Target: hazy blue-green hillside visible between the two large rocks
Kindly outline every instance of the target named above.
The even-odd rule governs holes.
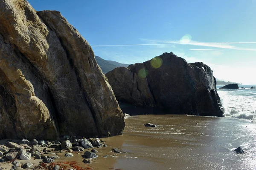
[[[113,70],[116,67],[128,67],[129,66],[129,64],[122,64],[122,63],[118,63],[116,61],[104,60],[103,58],[100,58],[99,56],[96,56],[96,55],[95,55],[95,58],[104,74]]]

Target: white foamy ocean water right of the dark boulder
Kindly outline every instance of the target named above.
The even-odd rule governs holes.
[[[217,86],[225,116],[247,121],[256,120],[256,89],[250,89],[251,86],[256,87],[240,85],[239,89],[219,89],[222,86]],[[245,89],[240,89],[241,87]]]

